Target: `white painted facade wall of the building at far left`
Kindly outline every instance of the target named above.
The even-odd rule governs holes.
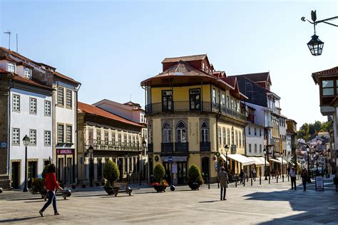
[[[43,171],[43,159],[48,159],[48,157],[53,157],[52,155],[52,138],[51,145],[44,145],[44,131],[51,131],[51,137],[53,135],[52,130],[52,111],[50,116],[45,116],[45,100],[51,101],[51,96],[41,95],[37,93],[31,93],[26,90],[19,90],[12,88],[10,91],[11,94],[11,149],[10,149],[10,159],[21,159],[21,187],[24,185],[24,168],[25,168],[25,147],[22,142],[22,139],[25,135],[29,136],[29,130],[36,130],[36,145],[28,146],[27,149],[27,158],[28,159],[38,159],[38,175],[41,177],[41,172]],[[12,108],[13,103],[13,94],[20,95],[20,112],[14,112]],[[37,102],[37,113],[29,114],[29,98],[36,98]],[[13,145],[13,132],[12,128],[20,129],[20,144]]]

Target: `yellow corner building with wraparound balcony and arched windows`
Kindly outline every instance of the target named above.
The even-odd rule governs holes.
[[[207,55],[165,58],[162,64],[163,72],[140,83],[150,176],[156,164],[163,164],[168,182],[185,184],[188,168],[196,164],[205,179],[216,182],[221,165],[239,174],[254,164],[244,156],[247,120],[240,100],[247,97],[237,78],[215,71]]]

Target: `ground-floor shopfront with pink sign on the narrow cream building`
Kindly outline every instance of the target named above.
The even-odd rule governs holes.
[[[75,177],[75,150],[56,149],[56,179],[63,184],[72,184]]]

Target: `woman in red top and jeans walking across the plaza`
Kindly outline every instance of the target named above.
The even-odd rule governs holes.
[[[60,215],[58,213],[58,209],[56,209],[56,196],[55,196],[55,191],[56,189],[61,189],[62,188],[58,185],[58,182],[56,181],[56,176],[55,176],[56,168],[54,164],[50,164],[47,170],[46,174],[46,181],[44,184],[44,189],[47,190],[47,198],[48,201],[46,204],[42,207],[42,209],[39,211],[39,214],[43,217],[43,211],[47,209],[47,207],[53,202],[53,209],[54,209],[54,215]]]

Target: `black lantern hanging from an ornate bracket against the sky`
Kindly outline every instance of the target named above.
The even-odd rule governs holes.
[[[302,21],[307,20],[309,23],[313,24],[313,28],[314,28],[314,35],[312,36],[311,40],[307,43],[307,47],[309,47],[309,51],[311,52],[312,56],[320,56],[322,54],[322,50],[323,50],[323,46],[324,46],[324,42],[320,41],[318,36],[316,35],[316,25],[318,23],[327,23],[329,25],[332,26],[338,26],[336,24],[333,23],[329,23],[327,21],[333,20],[333,19],[337,19],[338,16],[334,16],[332,18],[328,18],[328,19],[322,19],[320,21],[317,21],[317,15],[316,15],[316,11],[311,11],[311,19],[313,22],[305,19],[305,17],[302,17]]]

